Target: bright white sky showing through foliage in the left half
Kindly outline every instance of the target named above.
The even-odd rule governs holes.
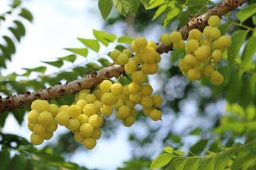
[[[0,13],[6,11],[9,0],[0,1]],[[54,61],[55,57],[70,55],[63,50],[70,47],[85,47],[77,38],[94,38],[92,29],[102,30],[103,19],[97,8],[97,1],[92,0],[27,0],[23,6],[33,14],[33,23],[23,20],[26,26],[26,36],[21,43],[16,43],[16,54],[8,63],[8,69],[1,74],[11,72],[23,73],[21,68],[33,68],[43,65],[41,61]],[[8,26],[8,24],[6,25]],[[4,24],[1,30],[4,30]],[[1,31],[0,35],[7,32]],[[95,56],[94,53],[90,57]],[[29,62],[28,62],[29,61]],[[79,62],[79,60],[78,60]],[[46,65],[47,66],[47,65]],[[49,67],[46,74],[56,69]],[[29,140],[31,132],[27,128],[28,120],[25,115],[23,125],[20,127],[13,115],[9,115],[3,132],[18,134]],[[115,169],[122,166],[122,162],[131,157],[131,147],[127,142],[128,128],[119,128],[117,134],[107,140],[97,140],[97,146],[89,152],[80,150],[68,161],[90,169]],[[58,140],[58,134],[67,132],[65,127],[58,127],[50,141]],[[46,141],[47,143],[47,141]],[[38,148],[43,147],[39,146]]]

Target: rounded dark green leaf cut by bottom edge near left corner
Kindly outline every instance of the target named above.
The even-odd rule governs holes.
[[[8,170],[26,170],[26,159],[21,156],[16,154],[13,159],[11,159],[11,162],[7,168]]]

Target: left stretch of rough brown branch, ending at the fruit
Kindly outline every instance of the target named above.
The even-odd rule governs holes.
[[[40,89],[33,93],[27,91],[26,94],[2,98],[0,100],[0,113],[31,105],[31,103],[38,98],[50,101],[51,99],[58,99],[61,96],[75,94],[83,89],[90,89],[97,86],[97,84],[100,84],[103,80],[117,77],[122,73],[124,73],[124,66],[112,64],[110,67],[102,68],[97,72],[85,74],[82,79],[76,79],[69,83],[67,81],[66,84],[58,84],[48,89]]]

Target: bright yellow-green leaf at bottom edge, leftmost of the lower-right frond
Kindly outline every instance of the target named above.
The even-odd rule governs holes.
[[[149,169],[159,169],[168,164],[174,156],[172,154],[160,154],[159,157],[154,159]]]

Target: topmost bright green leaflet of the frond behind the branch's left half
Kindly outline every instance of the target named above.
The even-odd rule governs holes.
[[[116,35],[109,35],[108,33],[100,30],[93,30],[93,35],[98,41],[102,42],[102,44],[106,47],[107,45],[109,45],[110,42],[114,42],[114,40],[117,39]]]

